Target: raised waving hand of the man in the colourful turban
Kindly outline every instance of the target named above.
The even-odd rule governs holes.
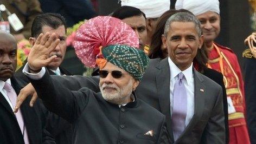
[[[55,49],[59,42],[60,40],[55,33],[50,34],[46,32],[44,35],[40,34],[28,55],[29,68],[33,71],[37,71],[52,62],[57,56],[53,55],[49,57],[49,54]]]

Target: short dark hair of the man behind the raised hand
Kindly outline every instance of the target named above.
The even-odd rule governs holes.
[[[39,36],[39,34],[42,32],[42,27],[44,25],[54,29],[57,29],[61,25],[64,25],[66,30],[65,18],[60,14],[48,12],[35,17],[31,27],[31,36],[32,37]]]

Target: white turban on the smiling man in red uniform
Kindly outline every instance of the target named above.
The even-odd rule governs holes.
[[[213,11],[220,14],[220,3],[219,0],[177,0],[175,9],[189,10],[195,16],[201,15],[207,11]]]

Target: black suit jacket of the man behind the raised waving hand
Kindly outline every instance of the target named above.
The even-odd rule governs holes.
[[[27,85],[30,80],[22,73],[24,66],[18,69],[15,76],[20,78],[23,86]],[[71,75],[66,69],[59,67],[62,75]],[[50,75],[55,75],[52,70],[48,70]],[[42,101],[39,101],[40,106],[44,109],[44,113],[47,115],[47,126],[46,130],[52,134],[55,138],[56,143],[72,143],[73,127],[72,125],[62,119],[61,117],[49,112],[46,107],[44,107]]]

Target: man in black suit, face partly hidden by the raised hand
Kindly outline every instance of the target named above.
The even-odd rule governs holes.
[[[29,38],[29,42],[31,45],[35,44],[36,38],[40,33],[45,34],[46,32],[55,33],[57,37],[60,39],[60,43],[54,49],[50,56],[56,55],[57,58],[53,62],[49,63],[47,66],[47,70],[50,75],[71,75],[69,71],[65,68],[61,67],[61,63],[64,60],[66,53],[66,25],[65,19],[59,14],[46,13],[37,16],[32,24],[31,28],[31,36]],[[20,78],[22,84],[26,85],[30,81],[28,78],[22,73],[21,67],[15,73],[15,76]],[[40,104],[43,106],[42,102]],[[46,108],[45,112],[47,113],[47,130],[52,134],[55,138],[56,143],[71,143],[72,141],[72,126],[66,120],[63,120],[61,117],[50,113]]]

